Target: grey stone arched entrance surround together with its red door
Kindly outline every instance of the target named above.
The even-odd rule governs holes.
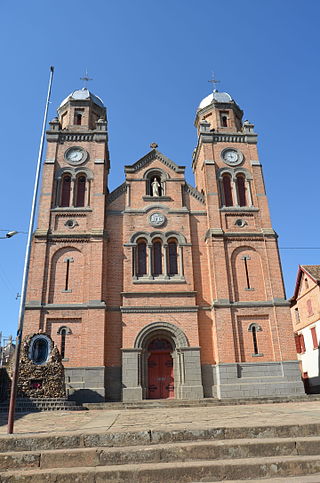
[[[122,400],[201,399],[200,347],[168,322],[153,322],[122,349]]]

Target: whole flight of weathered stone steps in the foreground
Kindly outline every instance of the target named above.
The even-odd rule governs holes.
[[[0,481],[320,482],[318,434],[320,424],[2,436]]]

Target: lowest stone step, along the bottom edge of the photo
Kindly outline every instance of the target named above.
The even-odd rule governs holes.
[[[222,481],[276,476],[308,475],[320,472],[319,456],[276,456],[241,460],[187,461],[174,463],[143,463],[96,467],[51,468],[48,470],[8,471],[1,474],[1,483],[71,482],[85,483],[178,483]],[[263,481],[263,480],[262,480]]]

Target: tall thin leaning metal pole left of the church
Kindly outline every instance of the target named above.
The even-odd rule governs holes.
[[[9,403],[8,431],[7,431],[8,434],[13,433],[13,425],[14,425],[14,414],[15,414],[15,406],[16,406],[18,376],[19,376],[21,339],[22,339],[22,332],[23,332],[23,321],[24,321],[28,274],[29,274],[29,266],[30,266],[31,240],[32,240],[32,233],[33,233],[34,220],[35,220],[35,214],[36,214],[36,207],[37,207],[38,188],[39,188],[40,173],[41,173],[41,160],[42,160],[42,153],[43,153],[43,146],[44,146],[45,129],[46,129],[47,117],[48,117],[48,109],[49,109],[49,103],[50,103],[50,97],[51,97],[53,72],[54,72],[54,67],[51,66],[49,85],[48,85],[48,94],[47,94],[47,100],[46,100],[46,107],[44,110],[41,139],[40,139],[40,146],[39,146],[39,153],[38,153],[36,177],[34,181],[33,198],[32,198],[29,230],[28,230],[28,240],[27,240],[26,253],[24,258],[24,268],[23,268],[20,308],[19,308],[19,323],[18,323],[18,332],[17,332],[17,338],[16,338],[16,350],[15,350],[15,357],[14,357],[10,403]]]

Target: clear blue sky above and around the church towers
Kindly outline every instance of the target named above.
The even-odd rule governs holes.
[[[2,0],[0,229],[27,230],[49,77],[49,118],[89,88],[108,108],[110,189],[159,149],[188,167],[194,115],[212,71],[255,123],[287,296],[298,264],[320,263],[317,0]],[[4,232],[2,232],[4,233]],[[16,332],[26,236],[0,240],[0,331]]]

